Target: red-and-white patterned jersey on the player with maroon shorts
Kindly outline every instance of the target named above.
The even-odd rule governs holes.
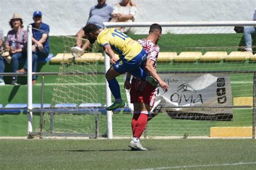
[[[137,42],[142,44],[143,49],[147,52],[147,59],[151,59],[154,62],[153,67],[157,70],[157,57],[160,47],[145,38],[138,39]]]

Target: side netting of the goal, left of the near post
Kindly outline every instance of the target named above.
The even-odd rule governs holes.
[[[81,40],[84,43],[86,39]],[[103,56],[97,46],[91,46],[83,56],[75,58],[71,52],[75,45],[75,37],[58,38],[58,48],[62,50],[51,59],[59,65],[51,107],[43,109],[41,125],[36,132],[41,135],[105,137],[106,112],[102,110],[105,79],[102,64],[99,64]]]

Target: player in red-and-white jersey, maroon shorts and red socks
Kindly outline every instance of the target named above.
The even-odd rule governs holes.
[[[152,24],[150,26],[149,36],[144,39],[137,40],[142,44],[144,50],[147,52],[147,60],[145,61],[144,69],[147,74],[155,78],[164,91],[167,91],[168,85],[157,74],[157,57],[159,53],[159,46],[157,42],[161,36],[161,26],[159,24]],[[131,74],[127,73],[124,83],[125,89],[130,90],[131,103],[133,103],[134,112],[132,118],[132,134],[133,138],[129,144],[129,147],[139,151],[147,151],[140,144],[140,136],[142,135],[149,117],[150,111],[154,105],[156,99],[157,89],[152,87],[147,81],[140,78],[132,78],[130,83]]]

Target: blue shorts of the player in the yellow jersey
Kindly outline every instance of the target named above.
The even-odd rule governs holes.
[[[147,53],[144,49],[133,59],[127,61],[125,59],[119,59],[114,65],[113,68],[120,74],[126,72],[132,72],[133,70],[138,69],[138,67],[143,67],[144,61],[147,59]]]

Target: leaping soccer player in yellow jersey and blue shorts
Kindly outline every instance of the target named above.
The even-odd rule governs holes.
[[[135,77],[145,79],[152,86],[157,86],[158,82],[151,76],[147,76],[142,69],[144,61],[147,59],[147,53],[142,45],[117,29],[110,28],[100,31],[95,24],[88,24],[83,30],[91,44],[97,40],[113,64],[105,76],[116,101],[106,110],[114,110],[125,105],[116,79],[120,74],[129,72]],[[114,53],[119,55],[119,59],[115,57]]]

